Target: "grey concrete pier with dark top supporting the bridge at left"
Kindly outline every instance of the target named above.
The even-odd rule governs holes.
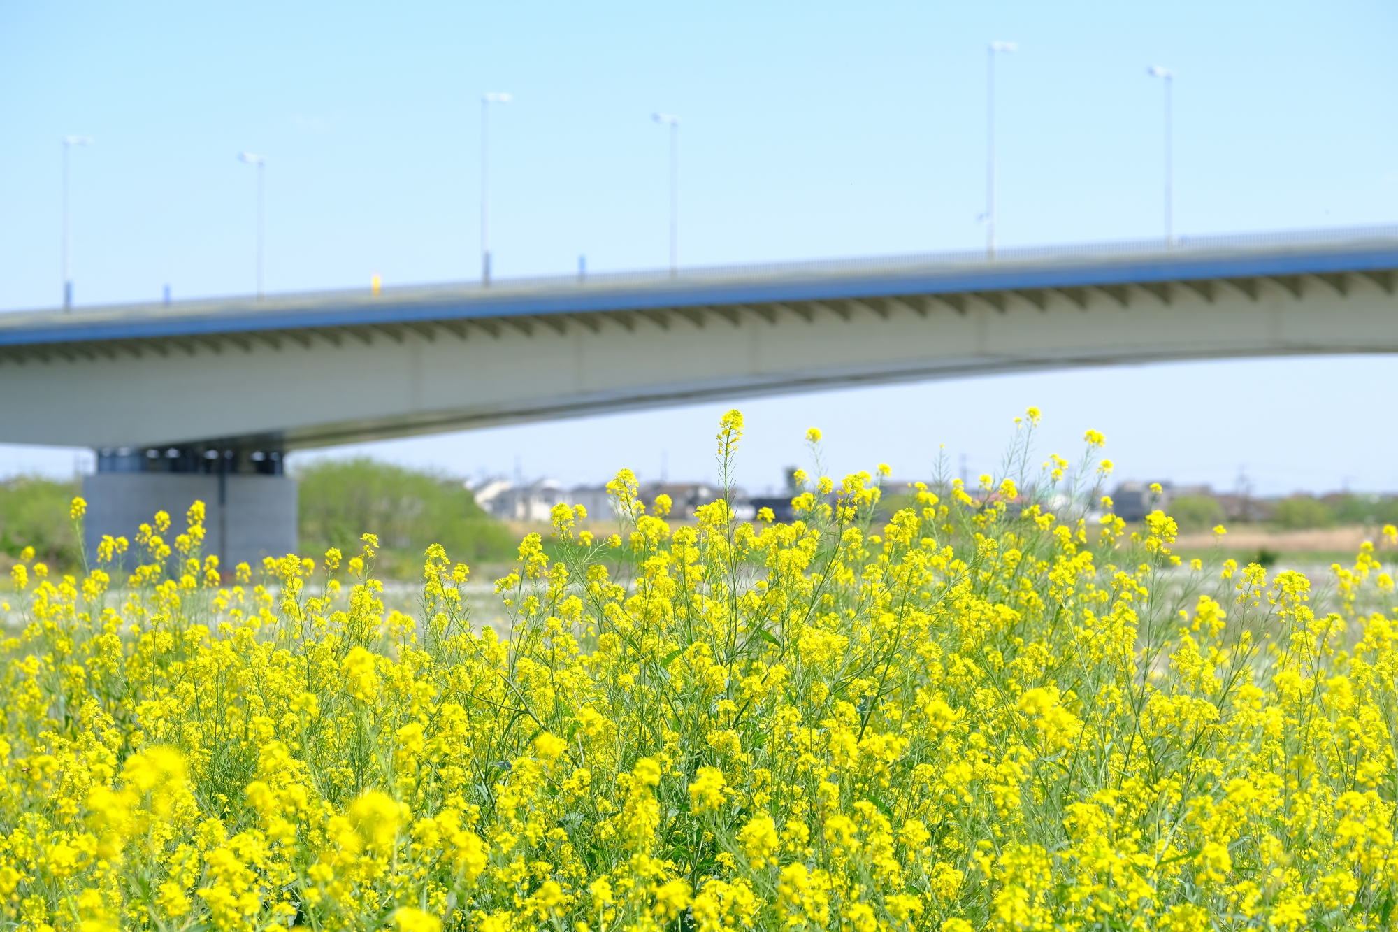
[[[82,480],[84,546],[92,554],[106,535],[134,543],[136,529],[165,511],[173,547],[185,512],[203,501],[203,553],[217,554],[224,572],[239,563],[257,572],[263,557],[296,551],[296,480],[284,462],[281,449],[217,441],[98,449],[96,473]]]

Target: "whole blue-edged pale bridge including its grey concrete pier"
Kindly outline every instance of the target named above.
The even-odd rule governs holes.
[[[127,523],[175,494],[133,481],[217,481],[246,500],[219,514],[264,526],[295,501],[267,483],[291,449],[842,385],[1398,353],[1395,284],[1385,227],[6,313],[0,396],[21,403],[0,442],[94,448],[89,497],[127,501]],[[218,553],[247,550],[219,533]]]

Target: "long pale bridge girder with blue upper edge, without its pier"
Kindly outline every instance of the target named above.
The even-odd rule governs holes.
[[[1036,277],[1005,263],[1001,287],[981,277],[959,290],[867,274],[863,291],[658,288],[637,299],[622,288],[589,306],[542,301],[493,315],[361,301],[368,312],[273,308],[238,329],[211,313],[183,332],[35,315],[8,330],[0,322],[0,395],[18,402],[0,417],[0,441],[257,438],[294,449],[842,385],[1398,353],[1398,248],[1383,255],[1135,278]]]

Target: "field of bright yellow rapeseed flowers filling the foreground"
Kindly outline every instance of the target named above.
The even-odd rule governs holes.
[[[6,606],[0,922],[1391,928],[1374,549],[1317,591],[1181,564],[1163,514],[1088,519],[1099,434],[1075,467],[1030,462],[1037,418],[1004,476],[917,487],[882,526],[867,473],[798,476],[790,525],[719,500],[672,526],[622,472],[618,535],[561,505],[548,550],[524,539],[499,633],[440,547],[418,617],[384,610],[372,536],[222,577],[199,504],[81,578],[31,557]]]

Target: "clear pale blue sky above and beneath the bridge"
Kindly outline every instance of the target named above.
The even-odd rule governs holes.
[[[60,297],[60,146],[80,304],[250,291],[267,157],[270,291],[478,274],[480,94],[498,276],[665,262],[679,115],[681,262],[983,242],[986,43],[1000,62],[998,234],[1160,232],[1160,84],[1176,81],[1184,234],[1398,221],[1398,7],[1331,3],[0,4],[0,309]],[[1123,474],[1264,491],[1398,488],[1395,361],[1159,365],[770,399],[744,479],[819,424],[835,469],[993,465],[1044,407],[1046,448],[1109,437]],[[7,403],[11,400],[7,399]],[[463,474],[712,472],[724,406],[368,449]],[[555,449],[562,444],[562,449]],[[344,451],[338,451],[344,452]],[[0,473],[71,470],[3,446]]]

